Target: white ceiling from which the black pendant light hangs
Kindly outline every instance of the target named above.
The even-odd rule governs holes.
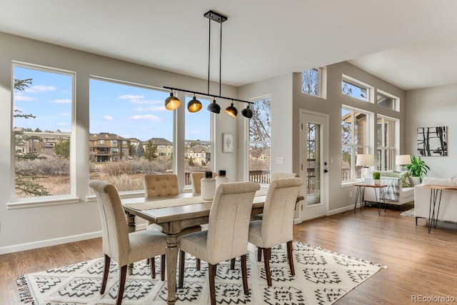
[[[0,31],[242,86],[340,61],[402,89],[457,83],[454,0],[0,0]],[[219,24],[211,22],[211,80]],[[215,42],[216,41],[216,42]],[[1,50],[1,49],[0,49]]]

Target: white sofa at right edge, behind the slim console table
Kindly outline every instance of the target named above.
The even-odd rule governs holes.
[[[451,179],[428,177],[423,179],[422,184],[414,186],[414,216],[416,216],[416,225],[418,218],[428,219],[431,189],[424,187],[427,185],[454,186]],[[438,212],[437,209],[438,207],[436,207],[435,215]],[[457,222],[457,190],[443,190],[440,209],[436,219]]]

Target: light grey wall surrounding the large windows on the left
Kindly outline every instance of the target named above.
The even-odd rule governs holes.
[[[89,75],[104,76],[111,79],[131,81],[149,86],[173,86],[194,91],[206,92],[206,80],[173,74],[168,71],[151,69],[146,66],[130,64],[125,61],[96,56],[82,51],[46,44],[31,39],[0,33],[0,254],[11,251],[31,249],[67,241],[99,236],[99,211],[94,201],[86,202],[89,186]],[[154,56],[154,52],[151,52]],[[76,204],[42,206],[29,209],[7,209],[14,181],[9,179],[14,172],[14,156],[11,154],[11,99],[12,69],[11,61],[23,61],[57,69],[76,71],[76,143],[79,169],[76,177]],[[205,64],[205,63],[202,63]],[[219,84],[211,84],[211,91]],[[236,97],[236,89],[224,86],[224,95]],[[229,101],[221,101],[221,108],[229,106]],[[238,109],[244,105],[236,104]],[[184,108],[177,111],[179,127],[176,130],[178,143],[184,145]],[[206,111],[204,109],[203,111]],[[236,133],[237,121],[246,120],[243,116],[232,119],[221,111],[214,115],[214,169],[227,169],[237,176],[237,154],[221,152],[222,133]],[[179,151],[183,152],[184,148]],[[183,168],[184,164],[181,163]],[[222,166],[223,164],[223,166]],[[182,172],[182,171],[181,171]],[[184,174],[180,176],[184,183]],[[76,199],[77,200],[77,199]]]

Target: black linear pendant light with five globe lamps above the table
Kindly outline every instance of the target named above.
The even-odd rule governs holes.
[[[248,119],[251,119],[253,116],[252,110],[249,108],[249,104],[253,104],[252,101],[243,101],[242,99],[233,99],[231,97],[226,97],[226,96],[221,96],[221,59],[222,59],[222,23],[224,21],[227,21],[227,16],[224,16],[222,14],[217,13],[216,11],[207,11],[204,14],[205,18],[208,18],[209,20],[209,41],[208,41],[208,92],[203,93],[203,92],[198,92],[198,91],[192,91],[192,90],[187,90],[187,89],[179,89],[179,88],[174,88],[174,87],[169,87],[169,86],[164,86],[165,89],[170,90],[170,96],[166,98],[165,100],[165,108],[168,110],[174,110],[177,109],[181,105],[181,101],[173,95],[173,91],[184,91],[186,93],[194,94],[194,98],[189,101],[187,104],[187,109],[190,112],[197,112],[201,109],[201,102],[196,99],[196,94],[200,96],[206,96],[206,97],[211,97],[213,99],[213,102],[208,105],[207,110],[214,112],[215,114],[219,114],[221,112],[221,106],[216,103],[216,98],[218,99],[228,99],[231,100],[230,106],[226,108],[226,114],[229,114],[229,116],[236,117],[238,114],[238,110],[233,106],[233,101],[241,101],[243,103],[247,103],[248,106],[246,109],[243,109],[241,111],[241,114],[245,116]],[[219,46],[219,95],[215,94],[210,94],[209,93],[209,75],[210,75],[210,61],[211,61],[211,21],[215,21],[218,24],[221,25],[221,35],[220,35],[220,46]]]

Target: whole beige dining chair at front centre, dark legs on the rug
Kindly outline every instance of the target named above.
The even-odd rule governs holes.
[[[211,304],[216,304],[216,266],[221,261],[241,256],[244,294],[249,294],[246,268],[248,227],[253,198],[260,185],[254,182],[221,184],[216,190],[209,212],[208,230],[187,234],[178,239],[180,251],[179,288],[184,284],[185,252],[209,264]]]

